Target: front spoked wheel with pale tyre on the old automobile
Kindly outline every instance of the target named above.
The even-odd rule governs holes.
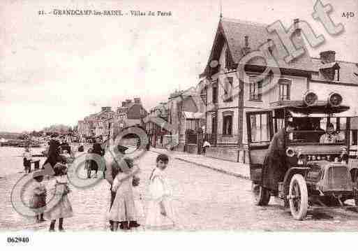
[[[301,174],[292,176],[288,195],[292,216],[295,220],[303,220],[307,215],[308,192],[306,180]]]

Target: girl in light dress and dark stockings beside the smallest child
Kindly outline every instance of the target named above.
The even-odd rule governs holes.
[[[54,196],[54,200],[58,202],[45,214],[51,220],[50,231],[54,231],[56,220],[59,220],[59,231],[64,231],[64,218],[73,216],[72,206],[68,199],[70,189],[66,174],[66,166],[59,163],[54,166],[54,180],[51,181],[49,187],[51,187],[50,192]]]

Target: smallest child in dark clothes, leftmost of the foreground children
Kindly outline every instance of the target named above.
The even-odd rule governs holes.
[[[36,222],[45,222],[43,211],[46,206],[46,187],[43,185],[43,175],[38,175],[38,171],[33,173],[33,179],[36,181],[32,190],[30,199],[30,208],[36,213]]]

